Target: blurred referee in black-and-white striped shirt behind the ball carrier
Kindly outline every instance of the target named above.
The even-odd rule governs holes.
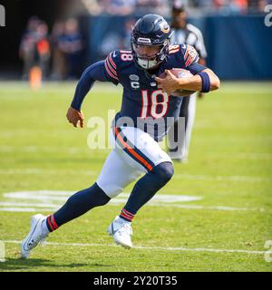
[[[193,46],[199,53],[199,63],[205,66],[207,51],[205,48],[203,36],[196,26],[187,22],[187,17],[188,14],[185,10],[185,5],[183,2],[174,1],[172,6],[171,24],[174,34],[171,38],[171,43],[185,43]],[[199,92],[199,97],[202,95],[202,92]],[[197,92],[191,94],[188,98],[183,98],[182,100],[180,107],[180,117],[185,118],[185,136],[180,136],[180,139],[178,139],[178,122],[176,122],[169,131],[168,141],[170,145],[170,155],[174,152],[176,160],[180,160],[180,162],[188,162],[189,141],[196,114],[196,105]],[[171,144],[173,140],[179,140],[178,146],[176,148],[174,144]]]

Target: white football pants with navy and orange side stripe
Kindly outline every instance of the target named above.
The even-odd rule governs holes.
[[[158,164],[172,162],[159,143],[141,129],[115,127],[111,141],[114,148],[104,162],[96,181],[110,198],[119,195],[131,182]]]

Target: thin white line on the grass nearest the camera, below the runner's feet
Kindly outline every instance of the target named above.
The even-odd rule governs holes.
[[[21,244],[22,241],[18,240],[5,240],[4,243],[8,244]],[[114,244],[87,244],[87,243],[57,243],[57,242],[45,242],[45,245],[52,246],[67,246],[67,247],[119,247]],[[132,248],[138,248],[142,250],[162,250],[162,251],[192,251],[192,252],[211,252],[211,253],[243,253],[243,254],[260,254],[264,255],[267,251],[257,251],[257,250],[240,250],[240,249],[224,249],[224,248],[205,248],[205,247],[197,247],[197,248],[189,248],[189,247],[142,247],[142,246],[134,246]]]

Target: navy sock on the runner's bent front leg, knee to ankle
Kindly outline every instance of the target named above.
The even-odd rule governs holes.
[[[147,203],[155,193],[166,185],[174,174],[173,165],[170,162],[162,162],[151,172],[146,173],[137,181],[132,189],[131,196],[125,207],[121,210],[120,218],[131,221],[137,211]]]

